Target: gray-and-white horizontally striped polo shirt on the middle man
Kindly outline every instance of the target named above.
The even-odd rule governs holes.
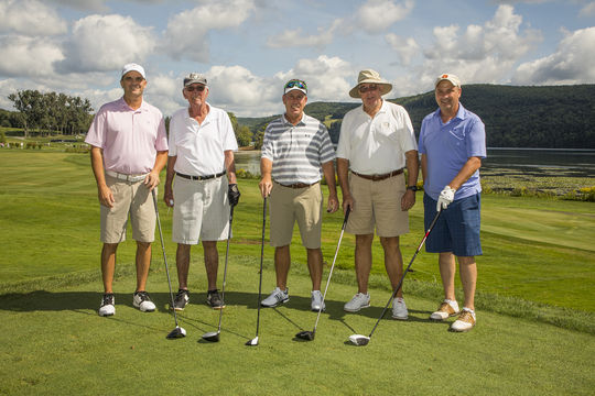
[[[321,165],[335,160],[326,127],[313,117],[302,116],[293,125],[284,116],[264,131],[261,157],[272,161],[272,178],[280,184],[313,184],[322,178]]]

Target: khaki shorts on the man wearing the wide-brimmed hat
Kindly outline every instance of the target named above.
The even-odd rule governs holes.
[[[376,226],[378,237],[409,232],[409,213],[401,210],[401,198],[407,190],[402,175],[372,182],[349,173],[349,187],[355,204],[345,231],[372,234]]]

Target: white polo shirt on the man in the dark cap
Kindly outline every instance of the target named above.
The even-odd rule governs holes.
[[[202,124],[191,118],[188,108],[177,110],[170,121],[170,156],[177,156],[174,170],[191,176],[208,176],[225,170],[225,152],[238,143],[229,116],[208,105]]]

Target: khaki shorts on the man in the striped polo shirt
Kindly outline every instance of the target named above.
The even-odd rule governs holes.
[[[321,248],[322,207],[320,183],[304,188],[283,187],[274,183],[269,198],[271,246],[289,245],[293,226],[298,221],[304,248]]]

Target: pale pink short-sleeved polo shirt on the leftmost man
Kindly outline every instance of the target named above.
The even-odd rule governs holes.
[[[132,110],[123,97],[101,106],[85,143],[104,150],[104,167],[127,175],[151,172],[158,151],[167,150],[161,111],[142,101]]]

